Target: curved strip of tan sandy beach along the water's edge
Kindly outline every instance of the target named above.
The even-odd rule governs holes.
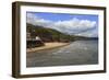
[[[43,50],[43,49],[51,49],[51,48],[58,48],[58,47],[62,47],[65,45],[69,45],[70,43],[45,43],[45,46],[40,46],[40,47],[36,47],[36,48],[27,48],[26,53],[33,53],[33,52],[38,52],[38,50]]]

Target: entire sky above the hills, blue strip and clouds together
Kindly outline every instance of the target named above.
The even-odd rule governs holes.
[[[98,36],[98,15],[27,12],[26,21],[71,35]]]

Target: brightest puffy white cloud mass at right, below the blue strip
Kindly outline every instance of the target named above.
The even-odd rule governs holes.
[[[78,20],[76,18],[73,18],[69,21],[58,21],[55,23],[55,25],[57,27],[63,27],[66,30],[82,31],[82,30],[95,27],[96,22],[89,20]]]

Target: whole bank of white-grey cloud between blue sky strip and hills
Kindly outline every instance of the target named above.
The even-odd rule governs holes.
[[[80,20],[77,18],[72,18],[71,20],[66,21],[50,21],[40,19],[34,13],[27,13],[27,23],[32,23],[34,25],[43,25],[45,27],[56,28],[63,33],[69,34],[77,34],[84,36],[95,36],[97,35],[97,23],[96,21],[89,20]],[[92,30],[95,28],[96,30]],[[92,32],[90,32],[92,31]]]

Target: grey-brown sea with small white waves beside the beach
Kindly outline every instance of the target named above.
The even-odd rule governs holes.
[[[98,41],[76,41],[68,46],[26,55],[27,67],[98,64]]]

